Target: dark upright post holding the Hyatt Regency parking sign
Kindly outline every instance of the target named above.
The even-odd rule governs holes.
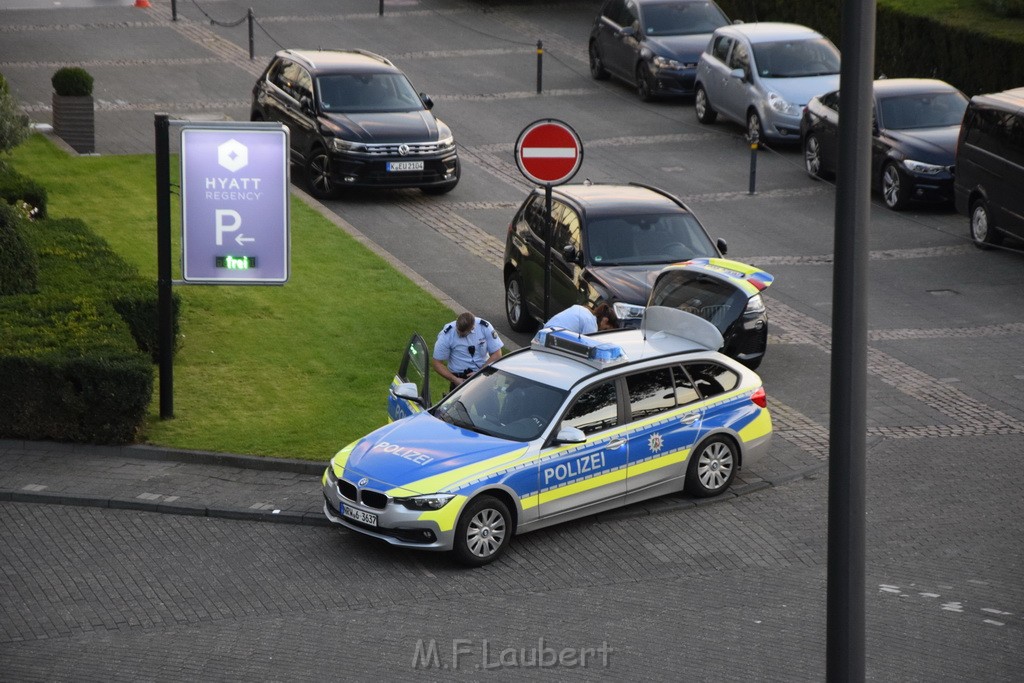
[[[174,310],[171,297],[170,119],[154,115],[157,157],[157,317],[160,347],[160,417],[174,417]]]

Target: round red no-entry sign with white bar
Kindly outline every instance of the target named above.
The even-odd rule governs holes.
[[[529,180],[541,185],[560,185],[580,170],[583,142],[567,123],[541,119],[519,133],[515,163]]]

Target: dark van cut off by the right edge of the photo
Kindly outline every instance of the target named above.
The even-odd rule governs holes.
[[[981,249],[1024,238],[1024,88],[976,95],[956,143],[953,200]]]

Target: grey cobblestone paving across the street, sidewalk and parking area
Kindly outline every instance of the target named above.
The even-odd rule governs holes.
[[[256,59],[244,28],[209,22],[248,4],[177,3],[173,22],[164,0],[82,3],[0,9],[0,73],[39,122],[56,68],[93,73],[99,154],[152,154],[156,112],[247,119],[279,41],[380,45],[416,72],[445,120],[460,118],[458,191],[327,206],[296,194],[453,307],[493,304],[492,321],[501,301],[445,268],[497,282],[527,188],[509,153],[519,124],[543,103],[586,126],[588,174],[684,188],[707,224],[731,230],[730,255],[776,275],[760,369],[775,439],[729,496],[666,497],[538,531],[475,571],[327,527],[325,463],[0,441],[4,680],[550,678],[540,664],[552,648],[577,665],[588,656],[559,666],[559,679],[823,678],[833,255],[821,226],[835,189],[805,177],[799,153],[762,156],[752,197],[729,170],[735,132],[590,80],[597,0],[557,11],[390,0],[383,17],[355,0],[262,0]],[[456,34],[458,44],[436,38]],[[522,67],[538,39],[543,95]],[[1019,254],[967,244],[965,220],[872,216],[871,680],[1012,681],[1024,665],[1024,275]]]

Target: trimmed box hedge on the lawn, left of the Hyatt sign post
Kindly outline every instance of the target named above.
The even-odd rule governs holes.
[[[0,437],[134,440],[153,395],[156,285],[81,220],[23,232],[39,288],[0,297]]]

